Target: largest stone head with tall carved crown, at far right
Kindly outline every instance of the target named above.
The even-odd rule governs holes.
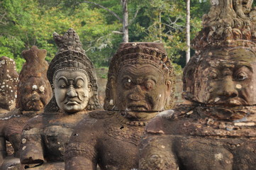
[[[253,106],[256,13],[251,11],[252,1],[216,2],[204,16],[203,29],[194,39],[196,55],[184,69],[184,96],[209,106]]]

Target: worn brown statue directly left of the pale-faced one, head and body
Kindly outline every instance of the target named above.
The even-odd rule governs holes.
[[[22,55],[26,62],[19,77],[16,78],[20,80],[16,109],[2,114],[0,118],[0,162],[4,161],[0,169],[20,164],[19,145],[22,129],[30,118],[42,113],[44,106],[52,96],[52,89],[46,77],[48,69],[48,63],[45,61],[46,50],[39,50],[38,47],[33,46],[30,50],[24,50]],[[8,82],[6,87],[12,89],[15,86],[12,87],[12,83]],[[6,157],[6,141],[11,142],[13,147],[12,157]]]

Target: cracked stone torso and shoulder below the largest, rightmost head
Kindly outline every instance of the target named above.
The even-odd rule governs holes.
[[[141,169],[255,169],[255,122],[190,114],[152,120],[147,132],[157,135],[144,137]]]

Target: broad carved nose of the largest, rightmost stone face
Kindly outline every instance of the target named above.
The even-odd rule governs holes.
[[[220,90],[218,91],[219,96],[226,98],[234,98],[238,96],[238,91],[235,89],[234,82],[231,77],[223,79]]]

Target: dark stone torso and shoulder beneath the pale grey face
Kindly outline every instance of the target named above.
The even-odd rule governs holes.
[[[24,128],[23,137],[30,138],[30,142],[35,142],[43,147],[43,152],[47,162],[63,162],[65,147],[72,134],[75,125],[82,120],[85,114],[64,115],[63,113],[43,113],[28,122]],[[38,135],[41,139],[30,135],[31,129],[34,129],[33,135]],[[23,147],[28,145],[23,142]],[[37,149],[35,145],[35,149]],[[30,148],[33,149],[33,148]],[[26,154],[29,155],[29,149]],[[32,154],[32,152],[31,152]]]

